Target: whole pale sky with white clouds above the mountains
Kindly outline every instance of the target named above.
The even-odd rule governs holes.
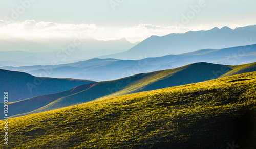
[[[232,29],[256,24],[254,0],[0,0],[0,39],[97,40]]]

